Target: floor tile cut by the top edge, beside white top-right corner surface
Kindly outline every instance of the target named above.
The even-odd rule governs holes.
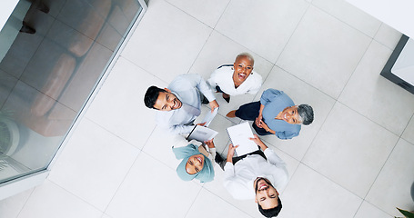
[[[358,31],[374,37],[379,30],[381,22],[375,17],[361,11],[345,0],[313,0],[312,5],[317,6],[329,15],[337,17]]]

